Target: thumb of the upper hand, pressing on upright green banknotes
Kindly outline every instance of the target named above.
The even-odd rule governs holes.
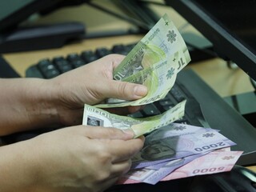
[[[124,100],[136,100],[143,98],[147,94],[147,87],[131,82],[119,82],[111,80],[110,85],[106,87],[107,98],[119,98]]]

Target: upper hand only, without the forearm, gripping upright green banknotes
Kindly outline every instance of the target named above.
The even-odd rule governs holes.
[[[113,80],[113,70],[124,56],[110,54],[95,62],[79,67],[50,80],[54,83],[55,106],[62,124],[70,126],[82,122],[84,103],[94,105],[106,98],[135,100],[146,96],[146,86]],[[110,110],[118,114],[127,114],[141,109],[141,106],[130,106]]]

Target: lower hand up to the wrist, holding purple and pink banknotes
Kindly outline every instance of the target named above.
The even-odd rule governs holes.
[[[33,191],[98,192],[130,169],[144,138],[114,128],[73,126],[26,142]]]

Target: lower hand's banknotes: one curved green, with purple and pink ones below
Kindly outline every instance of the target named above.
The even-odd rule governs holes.
[[[130,118],[86,106],[83,125],[134,130],[146,135],[142,150],[132,158],[130,172],[117,184],[156,184],[198,174],[230,171],[242,151],[230,151],[235,143],[218,130],[174,122],[184,114],[185,102],[150,118]],[[154,131],[153,131],[154,130]]]

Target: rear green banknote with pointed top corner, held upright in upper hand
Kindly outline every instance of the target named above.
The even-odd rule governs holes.
[[[185,55],[185,60],[180,59],[182,69],[186,62],[190,62],[190,54],[182,35],[168,15],[164,14],[114,70],[114,79],[121,81],[154,63],[165,62],[178,50]]]

